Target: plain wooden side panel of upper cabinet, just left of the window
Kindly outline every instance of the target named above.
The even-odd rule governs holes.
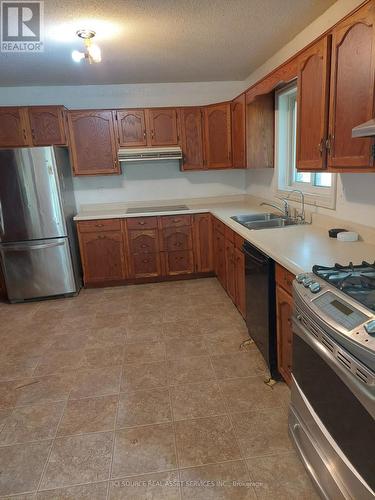
[[[274,94],[257,96],[247,105],[247,166],[273,168],[274,166]]]

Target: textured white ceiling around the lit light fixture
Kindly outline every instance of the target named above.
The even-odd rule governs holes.
[[[0,53],[0,85],[243,80],[334,2],[45,0],[45,51]],[[72,61],[79,28],[102,63]]]

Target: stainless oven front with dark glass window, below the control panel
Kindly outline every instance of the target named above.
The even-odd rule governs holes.
[[[348,353],[340,356],[342,348],[316,324],[310,330],[311,321],[293,319],[292,439],[302,459],[312,443],[321,451],[321,466],[310,472],[323,496],[331,497],[333,481],[336,498],[374,498],[375,375]],[[304,461],[314,469],[314,460]]]

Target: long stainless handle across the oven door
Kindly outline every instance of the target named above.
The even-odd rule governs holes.
[[[292,322],[293,333],[306,342],[327,363],[366,408],[370,415],[375,418],[375,387],[366,386],[365,383],[361,382],[359,379],[357,380],[356,376],[345,368],[338,359],[308,331],[308,329],[298,320],[298,317],[296,318],[293,316]],[[330,342],[335,347],[339,347],[332,338],[330,338]]]

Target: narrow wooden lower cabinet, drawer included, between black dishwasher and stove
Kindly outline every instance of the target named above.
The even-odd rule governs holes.
[[[292,277],[292,273],[276,265],[277,364],[288,385],[292,381]]]

